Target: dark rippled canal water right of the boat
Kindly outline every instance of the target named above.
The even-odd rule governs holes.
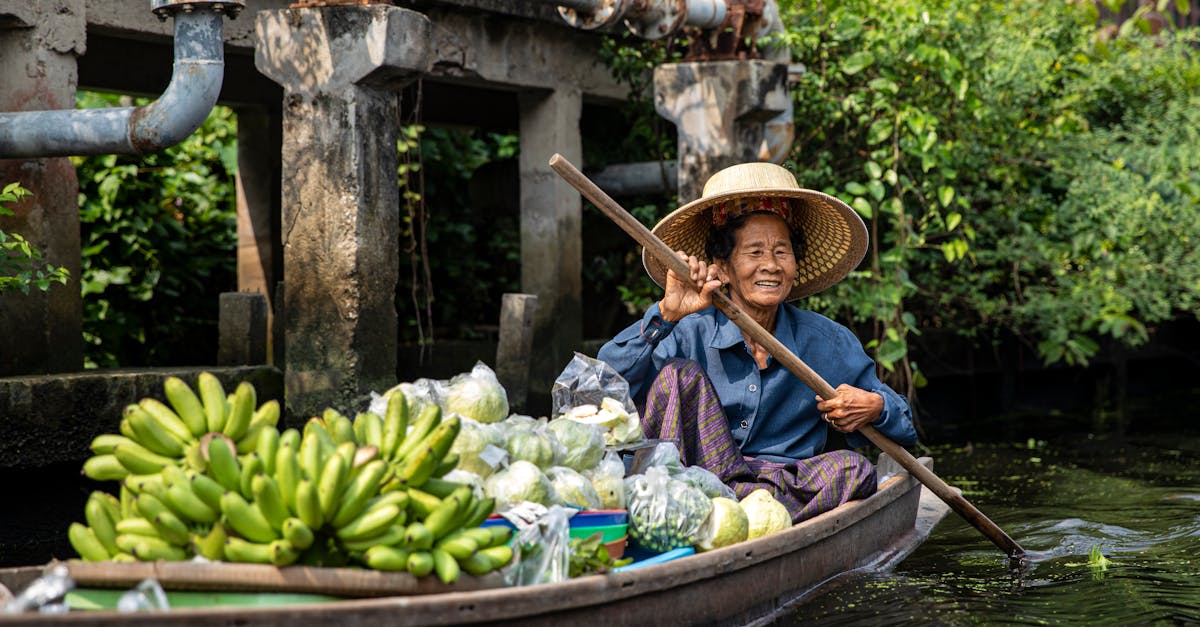
[[[1027,567],[1010,574],[950,512],[894,571],[835,580],[773,625],[1200,625],[1198,431],[932,449]]]

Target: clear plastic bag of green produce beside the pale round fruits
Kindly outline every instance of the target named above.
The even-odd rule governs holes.
[[[660,466],[628,477],[625,491],[629,495],[629,538],[654,553],[695,545],[701,525],[713,510],[709,497],[672,479]]]

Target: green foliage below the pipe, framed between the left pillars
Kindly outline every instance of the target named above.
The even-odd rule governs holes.
[[[79,104],[118,100],[84,92]],[[220,294],[236,288],[236,137],[233,112],[216,107],[161,153],[73,160],[88,366],[215,359]]]

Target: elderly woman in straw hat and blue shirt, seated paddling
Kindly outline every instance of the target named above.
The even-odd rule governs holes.
[[[779,166],[743,163],[714,174],[700,199],[654,233],[691,275],[677,276],[643,252],[664,297],[599,353],[629,381],[646,436],[678,440],[685,464],[713,471],[739,497],[767,488],[793,521],[871,495],[874,466],[858,453],[827,450],[828,428],[853,447],[868,443],[854,432],[866,424],[911,444],[908,402],[878,380],[850,329],[788,303],[862,261],[862,219],[834,197],[800,189]],[[743,334],[713,307],[715,289],[838,386],[838,396],[815,396]]]

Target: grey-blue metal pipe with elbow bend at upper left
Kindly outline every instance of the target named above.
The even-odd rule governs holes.
[[[192,135],[216,104],[224,76],[224,14],[241,0],[152,2],[175,19],[175,65],[158,100],[142,107],[0,113],[0,159],[144,155]]]

